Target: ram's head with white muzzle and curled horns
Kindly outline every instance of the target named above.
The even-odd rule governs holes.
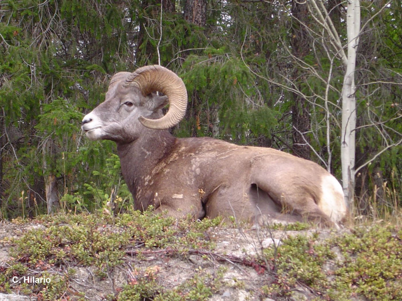
[[[166,104],[169,110],[163,116]],[[145,128],[161,130],[178,124],[186,107],[187,90],[180,77],[159,65],[146,66],[115,74],[106,100],[84,117],[82,129],[91,140],[130,142]]]

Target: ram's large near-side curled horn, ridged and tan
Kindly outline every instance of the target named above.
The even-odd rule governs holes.
[[[125,85],[136,85],[144,96],[159,91],[168,97],[169,110],[165,116],[155,120],[143,116],[138,118],[147,128],[171,128],[183,119],[187,108],[187,90],[182,79],[172,71],[159,65],[141,67],[127,77]]]

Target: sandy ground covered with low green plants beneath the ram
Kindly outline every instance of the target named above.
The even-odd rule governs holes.
[[[237,291],[245,300],[402,299],[402,229],[395,224],[338,232],[307,224],[250,229],[228,223],[177,222],[150,212],[16,219],[5,226],[30,229],[0,237],[9,255],[0,260],[0,292],[95,300],[89,285],[80,285],[80,271],[90,269],[92,288],[109,281],[111,289],[97,296],[110,301],[236,299]],[[225,241],[228,233],[254,235],[255,250],[240,239]],[[274,237],[280,243],[261,243]],[[220,247],[229,243],[240,244],[236,254]],[[183,264],[193,268],[189,272]],[[242,279],[233,276],[236,270]],[[23,277],[49,280],[12,281]]]

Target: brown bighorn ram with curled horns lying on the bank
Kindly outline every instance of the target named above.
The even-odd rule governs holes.
[[[82,120],[91,140],[117,143],[135,209],[153,205],[176,218],[220,215],[338,227],[347,209],[342,187],[330,173],[272,148],[176,138],[168,129],[183,118],[187,102],[186,87],[175,73],[146,66],[115,74],[105,102]]]

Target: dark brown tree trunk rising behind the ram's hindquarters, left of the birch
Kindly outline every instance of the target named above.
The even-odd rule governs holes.
[[[308,8],[306,2],[292,2],[291,8],[294,22],[292,24],[292,38],[290,41],[292,54],[298,58],[303,59],[309,53],[310,39],[306,27],[302,24],[308,22]],[[302,75],[295,64],[295,69],[292,73],[292,78],[296,82],[302,82],[299,77]],[[300,90],[301,87],[299,86]],[[293,106],[292,106],[292,138],[293,138],[293,154],[297,157],[310,159],[310,138],[306,134],[310,131],[310,106],[306,99],[297,93],[293,93]]]

